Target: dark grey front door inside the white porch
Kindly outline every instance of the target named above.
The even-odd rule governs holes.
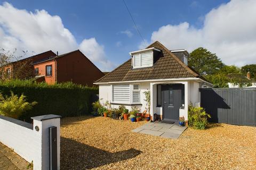
[[[184,98],[183,84],[162,86],[163,119],[179,120],[179,108]]]

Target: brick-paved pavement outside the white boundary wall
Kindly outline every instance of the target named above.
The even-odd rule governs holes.
[[[0,170],[27,169],[29,163],[10,148],[0,143]],[[31,169],[31,168],[29,168]]]

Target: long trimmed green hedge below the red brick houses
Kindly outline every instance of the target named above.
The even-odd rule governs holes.
[[[3,95],[24,94],[27,101],[37,101],[37,105],[19,119],[31,122],[30,117],[56,114],[62,117],[78,116],[90,112],[91,96],[98,94],[97,87],[85,87],[71,82],[48,85],[30,80],[0,81]]]

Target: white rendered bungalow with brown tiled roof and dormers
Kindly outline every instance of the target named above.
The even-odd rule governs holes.
[[[150,116],[166,121],[188,120],[188,105],[198,106],[199,88],[212,86],[188,66],[186,50],[169,50],[156,41],[146,49],[130,53],[131,58],[94,84],[99,85],[99,98],[141,112],[147,108],[145,94],[150,90]]]

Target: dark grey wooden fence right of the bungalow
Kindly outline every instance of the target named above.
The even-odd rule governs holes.
[[[256,126],[255,88],[200,89],[210,122]]]

